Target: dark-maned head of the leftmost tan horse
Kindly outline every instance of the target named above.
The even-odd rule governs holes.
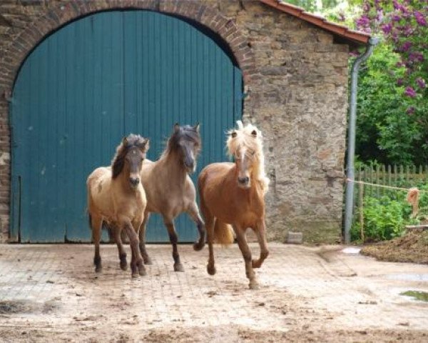
[[[112,177],[116,179],[122,172],[128,175],[129,185],[136,189],[140,184],[140,172],[143,159],[149,148],[149,139],[138,134],[130,134],[123,137],[121,144],[116,149],[116,155],[112,161]]]

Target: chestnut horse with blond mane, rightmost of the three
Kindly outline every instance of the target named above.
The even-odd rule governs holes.
[[[245,261],[245,272],[250,279],[250,289],[258,289],[253,268],[260,268],[269,252],[266,243],[265,193],[269,179],[265,177],[263,144],[260,131],[253,125],[229,132],[228,153],[235,163],[213,163],[205,166],[198,179],[200,211],[208,232],[208,274],[215,274],[213,242],[230,244],[235,231],[239,249]],[[230,225],[229,225],[230,224]],[[258,237],[260,258],[251,260],[245,237],[250,227]]]

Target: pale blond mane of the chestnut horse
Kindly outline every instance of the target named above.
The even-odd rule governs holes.
[[[260,182],[263,194],[269,189],[269,179],[265,174],[265,155],[263,154],[263,136],[262,132],[253,124],[243,125],[243,122],[236,121],[238,129],[228,131],[228,147],[229,156],[234,156],[240,146],[245,146],[247,149],[254,151],[255,159],[255,174],[253,177]],[[255,132],[255,135],[253,134]]]

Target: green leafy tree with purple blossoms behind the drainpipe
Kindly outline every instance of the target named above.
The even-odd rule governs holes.
[[[357,0],[354,1],[354,4]],[[384,37],[359,86],[357,154],[428,161],[428,0],[363,0],[357,29]]]

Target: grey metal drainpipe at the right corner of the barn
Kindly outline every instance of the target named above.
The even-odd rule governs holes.
[[[357,83],[358,71],[362,62],[366,61],[373,52],[374,46],[379,43],[379,38],[370,38],[364,54],[355,59],[351,70],[350,116],[348,121],[348,149],[347,149],[347,179],[355,179],[355,126],[357,124]],[[347,182],[345,200],[345,243],[350,242],[350,230],[352,225],[352,210],[354,209],[354,182]]]

